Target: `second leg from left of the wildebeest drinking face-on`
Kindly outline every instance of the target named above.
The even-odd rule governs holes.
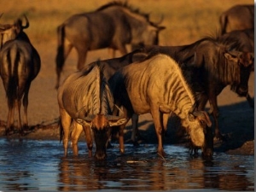
[[[73,131],[72,131],[71,139],[72,139],[72,148],[73,148],[74,156],[79,155],[78,142],[79,142],[79,136],[82,131],[83,131],[82,125],[79,125],[77,122],[73,121]]]

